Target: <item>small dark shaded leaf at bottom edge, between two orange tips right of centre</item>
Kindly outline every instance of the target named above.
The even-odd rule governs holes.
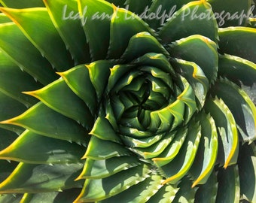
[[[218,191],[218,180],[215,171],[208,178],[207,182],[199,187],[195,196],[195,202],[198,203],[215,203]]]

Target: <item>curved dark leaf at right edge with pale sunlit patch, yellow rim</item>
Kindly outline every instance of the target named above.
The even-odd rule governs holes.
[[[248,95],[229,80],[218,80],[212,89],[233,114],[244,142],[256,139],[256,107]]]

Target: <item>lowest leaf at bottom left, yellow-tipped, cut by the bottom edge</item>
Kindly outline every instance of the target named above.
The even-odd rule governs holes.
[[[64,189],[62,192],[41,192],[35,194],[24,194],[20,203],[44,202],[63,203],[73,202],[81,192],[80,188]],[[0,201],[1,202],[1,201]],[[12,202],[10,202],[12,203]]]

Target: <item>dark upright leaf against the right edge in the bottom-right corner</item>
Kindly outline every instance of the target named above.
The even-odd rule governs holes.
[[[244,144],[239,153],[239,178],[242,197],[256,201],[256,147]]]

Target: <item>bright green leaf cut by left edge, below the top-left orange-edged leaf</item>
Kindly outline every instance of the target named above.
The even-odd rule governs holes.
[[[50,63],[41,56],[14,23],[0,24],[0,44],[0,50],[35,80],[46,85],[56,79]]]

